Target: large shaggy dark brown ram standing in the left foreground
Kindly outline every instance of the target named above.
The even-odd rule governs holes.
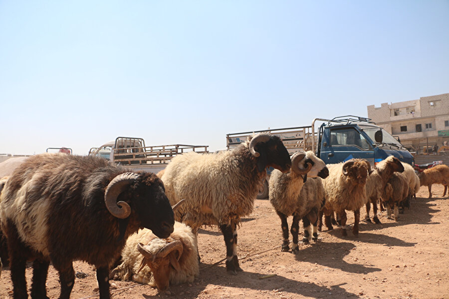
[[[59,272],[60,299],[70,297],[72,262],[96,267],[100,298],[108,299],[109,267],[139,228],[167,238],[175,223],[162,181],[129,173],[103,158],[42,154],[16,168],[0,195],[15,299],[27,298],[25,263],[33,262],[32,298],[47,298],[50,262]]]

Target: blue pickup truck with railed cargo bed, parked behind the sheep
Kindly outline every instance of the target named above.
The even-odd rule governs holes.
[[[315,131],[318,122],[321,125]],[[366,117],[345,115],[333,119],[315,118],[311,126],[227,134],[227,148],[231,149],[245,140],[247,135],[259,132],[279,136],[291,154],[300,150],[312,150],[326,164],[363,158],[375,165],[393,155],[400,161],[415,166],[414,157],[401,142]],[[268,170],[268,175],[270,172]],[[267,196],[268,183],[265,181],[257,198]]]

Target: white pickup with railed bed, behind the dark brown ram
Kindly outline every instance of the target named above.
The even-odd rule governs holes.
[[[142,138],[117,137],[115,141],[91,148],[89,155],[126,165],[134,171],[158,173],[165,169],[176,155],[192,151],[208,153],[208,147],[208,145],[186,144],[145,146]]]

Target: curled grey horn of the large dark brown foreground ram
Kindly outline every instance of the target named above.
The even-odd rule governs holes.
[[[124,201],[117,201],[117,197],[123,192],[125,187],[134,182],[139,175],[137,173],[126,172],[116,176],[106,188],[104,193],[104,203],[112,216],[124,219],[131,214],[131,207]]]

